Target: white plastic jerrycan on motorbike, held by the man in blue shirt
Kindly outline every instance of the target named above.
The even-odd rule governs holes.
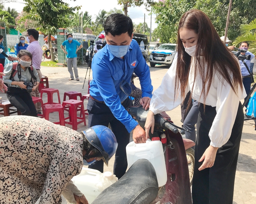
[[[135,144],[130,142],[126,146],[126,155],[128,169],[139,159],[147,159],[153,165],[156,171],[158,186],[163,186],[167,181],[167,172],[164,160],[163,145],[160,140],[151,141],[147,139],[146,143]]]

